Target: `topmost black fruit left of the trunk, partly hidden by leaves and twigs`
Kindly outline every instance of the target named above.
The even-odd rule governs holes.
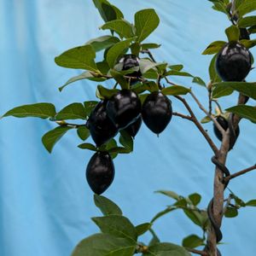
[[[119,63],[123,64],[122,70],[128,70],[132,67],[139,67],[139,58],[136,55],[124,55]],[[138,81],[138,78],[141,77],[142,73],[138,71],[134,71],[132,73],[125,74],[127,77],[133,77],[137,79],[131,79],[130,84],[135,84]]]

